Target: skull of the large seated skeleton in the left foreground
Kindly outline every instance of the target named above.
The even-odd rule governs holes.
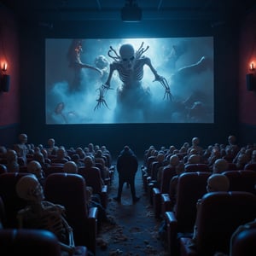
[[[16,184],[16,192],[26,201],[41,202],[44,200],[44,191],[37,177],[32,174],[20,177]]]

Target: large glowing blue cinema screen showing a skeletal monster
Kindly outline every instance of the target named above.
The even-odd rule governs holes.
[[[47,125],[213,123],[213,38],[46,38]]]

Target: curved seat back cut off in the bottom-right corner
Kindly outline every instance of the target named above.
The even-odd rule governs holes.
[[[256,221],[240,226],[232,235],[230,256],[256,255]]]

